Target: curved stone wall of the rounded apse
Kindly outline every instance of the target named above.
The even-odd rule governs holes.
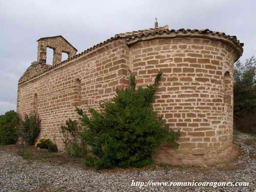
[[[158,70],[163,72],[154,108],[181,133],[179,150],[163,146],[157,161],[209,162],[231,152],[237,53],[221,41],[203,38],[142,41],[131,50],[139,83],[152,83]]]

